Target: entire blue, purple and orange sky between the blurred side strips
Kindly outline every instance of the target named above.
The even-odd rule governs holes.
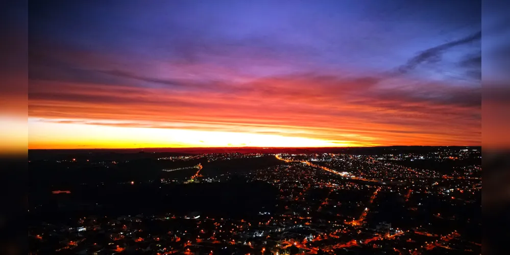
[[[34,3],[29,148],[481,145],[480,9]]]

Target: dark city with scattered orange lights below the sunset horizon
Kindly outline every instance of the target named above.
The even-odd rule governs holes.
[[[30,251],[481,254],[481,148],[405,150],[35,158],[31,173],[116,177],[34,185]]]

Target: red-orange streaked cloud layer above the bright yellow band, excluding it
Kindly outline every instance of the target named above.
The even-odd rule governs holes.
[[[331,141],[355,135],[376,144],[401,144],[403,138],[413,144],[453,139],[462,144],[476,138],[480,121],[473,115],[480,110],[477,90],[434,85],[424,86],[420,95],[378,88],[370,79],[267,78],[242,84],[234,95],[221,90],[47,81],[31,81],[31,88],[31,117],[72,123],[87,119],[81,123],[93,125],[279,134]]]

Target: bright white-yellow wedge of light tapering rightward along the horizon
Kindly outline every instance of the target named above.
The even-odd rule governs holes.
[[[29,148],[357,146],[270,134],[119,127],[29,120]]]

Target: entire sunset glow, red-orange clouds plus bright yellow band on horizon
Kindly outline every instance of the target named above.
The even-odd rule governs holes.
[[[481,121],[472,117],[479,107],[380,96],[374,88],[313,77],[225,85],[238,90],[232,95],[53,81],[29,86],[29,149],[481,145]]]

